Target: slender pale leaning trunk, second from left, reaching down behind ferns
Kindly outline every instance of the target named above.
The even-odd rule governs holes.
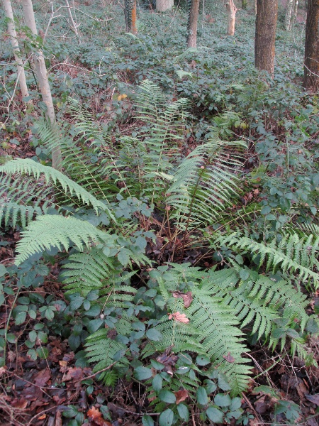
[[[37,26],[35,25],[35,17],[33,12],[33,5],[31,0],[22,0],[23,16],[26,21],[26,26],[30,28],[34,35],[38,35]],[[35,63],[35,70],[38,77],[40,91],[42,99],[47,106],[45,115],[51,124],[55,123],[55,109],[53,107],[51,90],[49,80],[47,80],[47,67],[45,66],[45,59],[43,53],[38,49],[36,53],[33,53],[33,61]],[[60,170],[61,169],[62,156],[60,147],[52,150],[52,167]]]

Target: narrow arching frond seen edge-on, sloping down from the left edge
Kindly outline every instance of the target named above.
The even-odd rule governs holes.
[[[55,170],[54,168],[35,163],[35,161],[28,158],[19,158],[17,160],[11,160],[5,165],[0,167],[0,173],[6,173],[7,175],[33,175],[35,180],[43,179],[45,185],[53,184],[60,185],[65,194],[77,197],[77,200],[84,205],[90,205],[96,212],[103,211],[108,213],[109,217],[115,219],[111,214],[110,209],[103,202],[99,201],[81,187],[78,183],[67,178],[63,173]]]

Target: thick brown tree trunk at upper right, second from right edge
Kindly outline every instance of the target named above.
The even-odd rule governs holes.
[[[278,0],[257,0],[254,65],[274,75]]]

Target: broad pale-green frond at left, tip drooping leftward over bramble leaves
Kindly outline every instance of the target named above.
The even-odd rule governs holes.
[[[85,246],[89,248],[93,241],[106,241],[109,237],[106,232],[99,231],[89,222],[47,214],[38,216],[21,234],[22,239],[17,245],[19,254],[16,256],[16,265],[20,265],[28,256],[45,249],[57,247],[59,250],[68,250],[69,246],[74,244],[82,251]]]

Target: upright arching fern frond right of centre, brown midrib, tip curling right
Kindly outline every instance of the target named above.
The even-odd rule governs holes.
[[[167,193],[167,204],[175,209],[174,217],[180,224],[191,227],[211,224],[236,197],[240,162],[230,148],[242,143],[208,142],[198,146],[179,165],[174,183]],[[187,225],[186,225],[187,226]]]

